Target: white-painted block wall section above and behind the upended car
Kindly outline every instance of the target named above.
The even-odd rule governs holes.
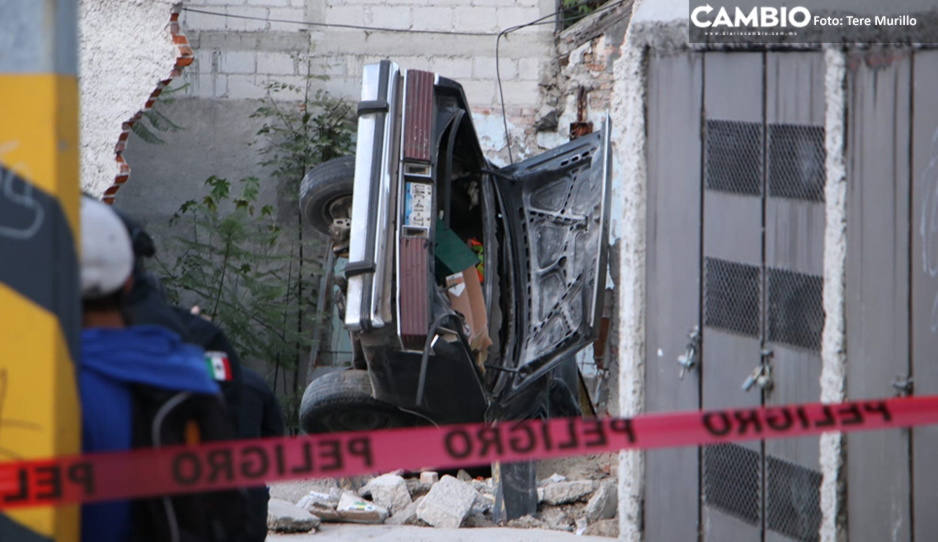
[[[196,51],[184,76],[189,97],[258,99],[270,80],[302,84],[307,74],[315,74],[329,78],[317,87],[357,100],[362,67],[390,58],[403,68],[460,81],[485,150],[505,162],[496,35],[547,16],[549,24],[513,32],[500,46],[509,129],[518,137],[516,152],[529,153],[521,133],[534,124],[540,105],[539,82],[553,51],[554,0],[441,0],[432,5],[419,0],[190,0],[185,7],[182,22]]]

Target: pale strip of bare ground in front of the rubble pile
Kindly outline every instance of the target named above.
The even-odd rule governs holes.
[[[434,529],[410,525],[354,525],[350,523],[323,523],[319,532],[306,534],[269,534],[268,542],[319,542],[335,540],[352,542],[609,542],[600,536],[577,536],[573,533],[546,529]]]

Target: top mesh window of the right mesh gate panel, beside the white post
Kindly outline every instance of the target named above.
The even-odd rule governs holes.
[[[769,195],[824,201],[824,127],[769,125]]]

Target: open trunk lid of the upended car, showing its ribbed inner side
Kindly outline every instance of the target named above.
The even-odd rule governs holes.
[[[502,169],[514,344],[496,394],[505,399],[599,334],[609,238],[609,119],[599,131]]]

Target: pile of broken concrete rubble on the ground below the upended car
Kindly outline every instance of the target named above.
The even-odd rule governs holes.
[[[297,511],[315,522],[384,523],[439,528],[494,527],[495,486],[491,478],[473,479],[465,471],[457,476],[425,471],[419,477],[391,472],[360,480],[357,492],[338,487],[318,488],[296,506],[271,500],[268,524],[272,530],[303,530]],[[567,480],[554,474],[538,484],[538,512],[511,520],[508,527],[553,529],[596,536],[617,537],[618,494],[614,478]],[[277,502],[276,507],[273,506]],[[286,505],[286,506],[284,506]],[[287,508],[289,506],[290,508]],[[287,519],[277,519],[275,511]],[[293,527],[294,518],[301,527]]]

